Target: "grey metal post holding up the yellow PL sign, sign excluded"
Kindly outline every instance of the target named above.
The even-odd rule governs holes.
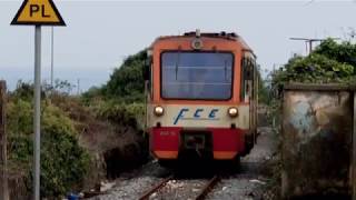
[[[41,158],[41,26],[34,27],[34,199],[40,199],[40,158]]]

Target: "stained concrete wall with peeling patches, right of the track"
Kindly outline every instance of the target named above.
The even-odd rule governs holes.
[[[281,194],[350,194],[354,91],[344,86],[284,89]]]

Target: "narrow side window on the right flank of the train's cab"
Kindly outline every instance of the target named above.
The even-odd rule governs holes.
[[[253,98],[255,59],[245,57],[241,60],[241,101],[248,102]]]

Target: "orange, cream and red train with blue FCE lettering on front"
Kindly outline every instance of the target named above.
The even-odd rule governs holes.
[[[239,160],[257,137],[256,56],[235,32],[157,38],[147,50],[146,127],[162,166],[180,158]]]

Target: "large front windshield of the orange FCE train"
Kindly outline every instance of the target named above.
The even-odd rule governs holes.
[[[164,52],[164,99],[228,100],[233,94],[233,53]]]

